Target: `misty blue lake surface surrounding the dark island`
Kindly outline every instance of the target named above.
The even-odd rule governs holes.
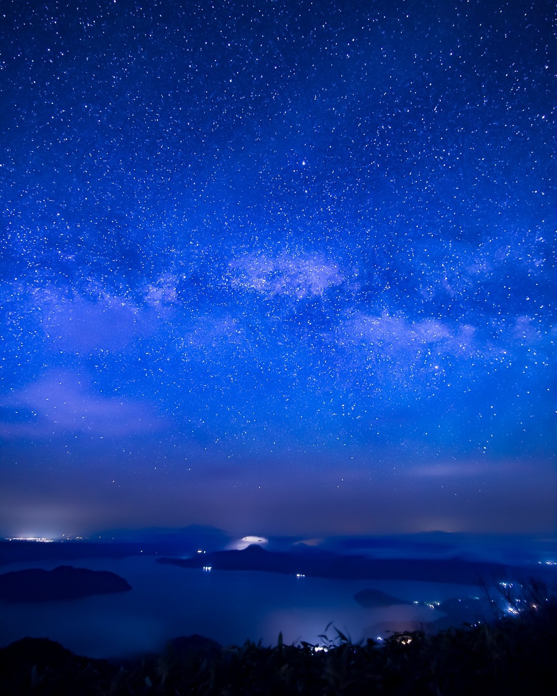
[[[12,563],[1,573],[25,568],[52,569],[63,562]],[[68,564],[69,563],[65,563]],[[132,590],[84,599],[45,603],[0,602],[0,645],[29,635],[57,640],[89,657],[118,657],[160,651],[170,638],[199,633],[222,644],[246,639],[276,644],[307,640],[334,627],[352,640],[414,630],[444,616],[424,606],[363,608],[354,594],[375,588],[407,601],[443,601],[480,594],[478,587],[407,580],[297,578],[265,572],[185,569],[155,557],[121,560],[81,559],[74,567],[108,570],[125,578]]]

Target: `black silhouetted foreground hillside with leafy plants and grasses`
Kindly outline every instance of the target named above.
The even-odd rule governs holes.
[[[24,638],[0,650],[2,695],[537,696],[556,693],[557,601],[530,597],[518,615],[434,634],[353,644],[221,647],[191,636],[125,664]]]

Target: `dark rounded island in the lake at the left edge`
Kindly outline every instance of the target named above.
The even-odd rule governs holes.
[[[58,566],[51,571],[31,568],[0,575],[0,599],[5,601],[58,601],[131,589],[127,580],[116,573],[72,566]]]

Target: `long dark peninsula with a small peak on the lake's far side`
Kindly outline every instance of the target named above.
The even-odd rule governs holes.
[[[478,585],[495,576],[501,579],[508,574],[508,567],[501,564],[467,561],[460,558],[416,559],[379,558],[360,555],[320,553],[277,553],[265,551],[253,544],[243,551],[215,551],[196,554],[191,558],[157,559],[182,568],[211,567],[215,570],[249,570],[303,574],[320,578],[351,580],[421,580],[434,583],[461,583]],[[524,569],[516,569],[524,574]],[[551,569],[550,569],[551,570]],[[553,575],[547,569],[535,569],[535,574],[550,581]]]

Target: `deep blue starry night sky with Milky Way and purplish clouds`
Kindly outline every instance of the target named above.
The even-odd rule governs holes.
[[[0,15],[1,533],[554,530],[553,3]]]

